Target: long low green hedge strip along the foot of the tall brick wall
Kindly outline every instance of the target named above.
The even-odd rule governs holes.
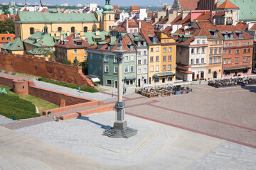
[[[56,84],[56,85],[59,85],[59,86],[69,87],[71,89],[79,89],[79,87],[80,87],[81,91],[87,91],[87,92],[90,92],[90,93],[99,92],[97,89],[95,89],[93,87],[90,87],[90,86],[80,86],[78,84],[68,84],[68,83],[64,83],[64,82],[61,82],[61,81],[54,81],[54,80],[51,80],[51,79],[46,79],[45,77],[41,77],[38,80],[39,81],[44,81],[44,82],[50,83],[50,84]]]

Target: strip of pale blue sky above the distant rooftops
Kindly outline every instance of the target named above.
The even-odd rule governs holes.
[[[25,0],[18,0],[21,1],[23,4],[25,2]],[[35,3],[37,2],[39,4],[40,0],[27,0],[28,2]],[[84,5],[85,3],[97,3],[98,5],[102,6],[105,4],[105,0],[41,0],[43,2],[45,2],[46,4],[64,4],[64,3],[68,3],[68,5],[78,5],[78,4],[82,4]],[[161,0],[161,3],[167,3],[167,4],[171,4],[173,0]],[[6,0],[6,2],[8,2],[8,0]],[[131,5],[137,5],[137,6],[156,6],[159,5],[159,0],[111,0],[110,3],[112,5],[119,5],[119,6],[131,6]]]

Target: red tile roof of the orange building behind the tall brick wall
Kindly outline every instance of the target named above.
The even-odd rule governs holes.
[[[65,45],[63,45],[61,42],[58,42],[56,46],[58,47],[65,47],[65,48],[84,48],[84,47],[90,47],[90,44],[83,40],[82,38],[75,37],[75,33],[69,35],[65,40],[68,40]],[[74,40],[82,40],[82,45],[75,45]]]

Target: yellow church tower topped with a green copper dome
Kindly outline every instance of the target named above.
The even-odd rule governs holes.
[[[102,12],[102,26],[101,30],[110,31],[114,26],[114,7],[110,5],[110,0],[106,0]]]

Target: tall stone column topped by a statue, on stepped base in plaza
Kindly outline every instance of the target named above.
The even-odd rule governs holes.
[[[127,127],[127,121],[124,120],[125,115],[125,103],[122,101],[122,60],[126,50],[122,50],[122,35],[117,34],[117,50],[114,50],[114,54],[117,56],[117,72],[118,72],[118,101],[115,103],[114,108],[116,110],[114,127],[105,130],[102,135],[113,138],[129,138],[137,135],[137,130]]]

